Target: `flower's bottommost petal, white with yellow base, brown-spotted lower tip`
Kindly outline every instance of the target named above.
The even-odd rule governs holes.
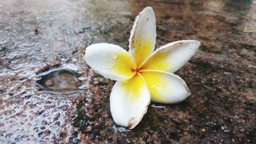
[[[135,75],[127,81],[117,81],[110,94],[111,114],[116,124],[133,129],[150,104],[150,91],[145,81]]]

